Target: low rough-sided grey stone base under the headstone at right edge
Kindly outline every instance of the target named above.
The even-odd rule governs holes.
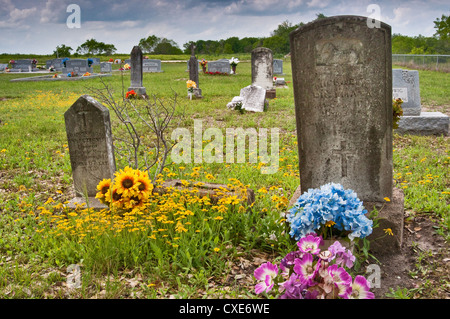
[[[421,112],[419,116],[402,116],[394,132],[412,135],[448,135],[449,117],[441,112]]]

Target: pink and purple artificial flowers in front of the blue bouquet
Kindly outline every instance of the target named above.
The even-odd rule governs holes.
[[[322,244],[322,236],[308,234],[297,242],[298,251],[288,253],[279,266],[262,264],[254,271],[260,281],[255,293],[273,289],[280,299],[374,299],[366,278],[353,279],[348,273],[355,261],[351,251],[338,241],[328,250],[321,250]]]

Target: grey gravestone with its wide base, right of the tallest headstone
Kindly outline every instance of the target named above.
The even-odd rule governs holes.
[[[419,71],[392,70],[392,98],[403,100],[403,116],[396,132],[412,135],[448,135],[449,117],[441,112],[422,112]]]

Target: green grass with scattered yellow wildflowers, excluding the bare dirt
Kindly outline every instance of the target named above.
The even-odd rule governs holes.
[[[200,57],[201,58],[201,57]],[[244,60],[245,57],[242,57]],[[54,209],[73,197],[71,167],[64,112],[91,88],[101,88],[98,79],[74,82],[10,82],[24,77],[0,75],[0,296],[2,298],[206,298],[228,296],[256,298],[254,283],[233,280],[233,266],[259,256],[275,259],[293,248],[293,242],[279,223],[286,207],[280,198],[290,199],[299,184],[298,151],[290,61],[285,61],[287,89],[278,89],[265,113],[228,110],[226,104],[240,89],[251,84],[251,66],[242,62],[237,75],[200,74],[204,98],[186,97],[186,63],[163,63],[163,73],[145,73],[149,95],[185,109],[182,126],[192,129],[194,119],[203,120],[203,130],[226,128],[279,128],[280,169],[262,174],[258,163],[203,163],[170,166],[176,178],[189,178],[201,166],[199,180],[212,174],[217,183],[236,178],[256,192],[256,203],[243,214],[229,214],[217,223],[211,212],[192,206],[192,229],[181,236],[178,248],[166,247],[161,239],[150,244],[151,233],[114,232],[86,239],[56,236],[41,207],[62,216],[69,212]],[[421,95],[428,105],[450,105],[448,79],[439,72],[419,71]],[[120,98],[129,74],[114,73],[105,82]],[[116,121],[112,114],[113,122]],[[224,134],[225,135],[225,134]],[[450,226],[450,147],[448,137],[394,135],[394,177],[405,192],[405,208],[414,214],[426,213],[440,225],[440,235],[448,238]],[[118,158],[119,168],[126,162]],[[165,172],[167,175],[167,172]],[[165,176],[167,177],[167,176]],[[267,190],[267,194],[258,192]],[[276,196],[276,197],[274,197]],[[47,203],[49,198],[54,203]],[[211,215],[208,215],[211,214]],[[410,215],[411,216],[411,215]],[[50,217],[48,217],[50,218]],[[39,225],[39,223],[44,222]],[[94,225],[94,223],[92,224]],[[201,229],[202,236],[195,233]],[[36,232],[36,230],[43,230]],[[271,234],[278,240],[270,239]],[[176,233],[169,234],[173,238]],[[219,248],[215,252],[214,248]],[[81,264],[82,287],[64,289],[66,269]],[[239,266],[240,267],[240,266]],[[238,268],[239,268],[238,267]],[[241,268],[242,269],[242,268]],[[246,268],[248,269],[248,268]],[[246,274],[251,277],[251,272]]]

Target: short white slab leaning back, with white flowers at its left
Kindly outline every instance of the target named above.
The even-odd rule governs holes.
[[[242,109],[250,112],[264,112],[267,108],[266,90],[258,85],[249,85],[241,89],[240,95],[235,96],[227,104],[229,109],[234,109],[236,103],[242,104]]]

